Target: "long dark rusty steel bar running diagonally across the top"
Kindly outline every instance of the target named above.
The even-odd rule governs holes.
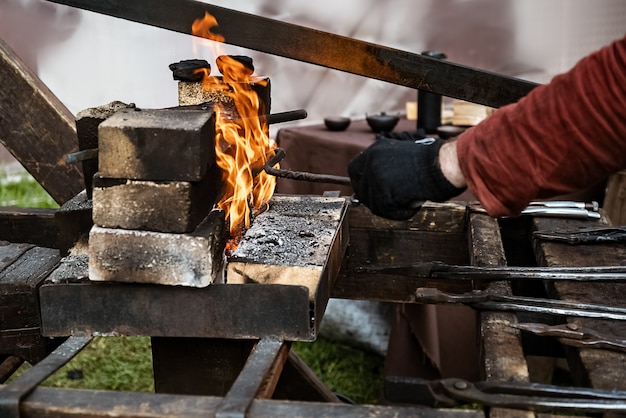
[[[224,42],[491,107],[516,102],[537,86],[483,71],[287,22],[193,0],[50,0],[134,22],[192,34],[208,13]]]

